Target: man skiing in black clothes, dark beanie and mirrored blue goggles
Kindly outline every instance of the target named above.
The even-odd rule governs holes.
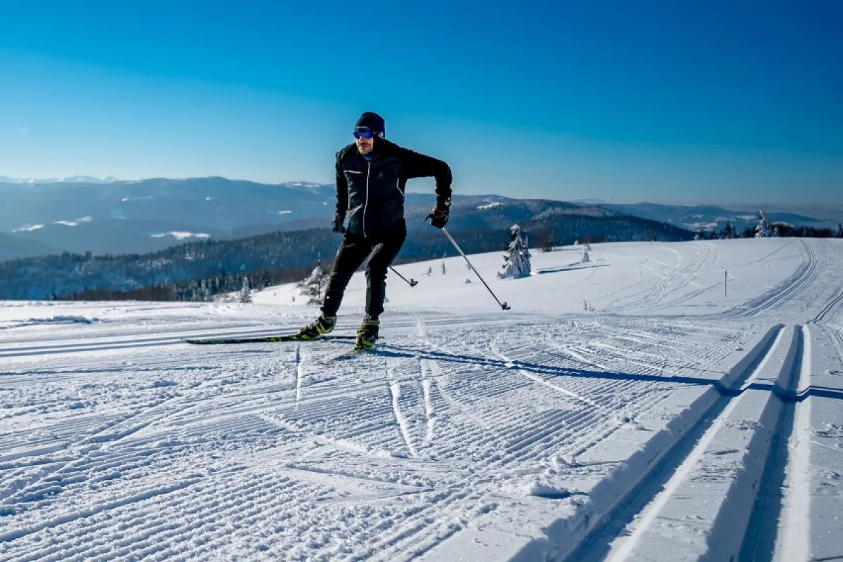
[[[357,329],[355,348],[367,350],[378,339],[384,312],[386,273],[404,244],[404,190],[407,179],[436,178],[436,206],[427,216],[432,226],[448,222],[451,169],[436,158],[414,153],[386,140],[384,118],[367,111],[354,124],[354,142],[336,153],[335,233],[344,234],[325,288],[322,313],[298,330],[298,337],[314,340],[336,325],[336,313],[348,281],[368,258],[366,315]],[[348,212],[348,227],[344,227]]]

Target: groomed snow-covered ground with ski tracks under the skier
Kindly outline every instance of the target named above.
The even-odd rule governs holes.
[[[333,362],[180,343],[297,328],[293,286],[4,302],[0,559],[843,557],[843,241],[581,254],[471,256],[509,311],[460,257],[400,265],[378,351]]]

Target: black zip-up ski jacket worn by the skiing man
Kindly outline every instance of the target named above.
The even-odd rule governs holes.
[[[336,153],[336,213],[348,213],[348,232],[373,236],[402,220],[407,179],[433,176],[437,202],[451,198],[451,169],[442,160],[382,138],[372,156],[368,162],[353,143]]]

